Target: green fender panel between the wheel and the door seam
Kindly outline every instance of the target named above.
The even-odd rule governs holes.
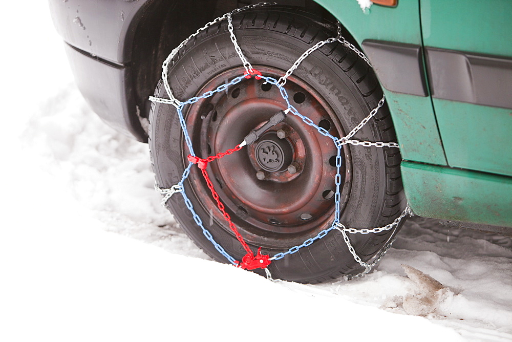
[[[368,49],[369,45],[364,44],[364,40],[387,41],[389,44],[397,43],[416,48],[422,45],[417,1],[401,1],[394,8],[372,6],[366,11],[362,11],[357,1],[353,0],[324,0],[318,3],[343,24],[374,64],[377,62],[378,65],[378,61],[374,61],[371,48]],[[375,55],[373,57],[376,58]],[[421,61],[416,59],[419,63],[416,75],[418,80],[424,80],[424,61],[422,55],[417,58],[420,57]],[[400,70],[400,60],[394,61],[392,68]],[[376,70],[381,84],[385,78],[384,72],[383,69]],[[402,74],[408,76],[407,73]],[[417,87],[422,88],[423,84],[419,83]],[[421,96],[401,94],[386,87],[383,87],[383,91],[393,118],[402,157],[406,160],[447,165],[430,97],[425,97],[424,93]]]

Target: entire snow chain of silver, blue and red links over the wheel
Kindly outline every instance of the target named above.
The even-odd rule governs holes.
[[[270,279],[270,280],[273,280],[272,279],[272,276],[270,274],[270,271],[268,270],[267,266],[271,263],[271,262],[275,262],[277,260],[280,260],[284,257],[286,257],[286,255],[288,254],[293,254],[293,253],[296,253],[298,250],[300,250],[301,248],[304,248],[304,247],[307,247],[309,245],[311,245],[312,243],[314,243],[316,240],[319,240],[319,239],[322,239],[324,238],[325,236],[327,236],[327,234],[329,234],[329,232],[331,232],[332,230],[339,230],[342,235],[343,235],[343,240],[345,241],[350,253],[353,255],[354,257],[354,260],[359,264],[361,265],[362,267],[365,268],[365,270],[359,274],[356,274],[356,275],[351,275],[349,276],[349,279],[351,278],[354,278],[354,277],[359,277],[359,276],[362,276],[368,272],[370,272],[370,270],[380,261],[380,259],[383,257],[383,255],[389,250],[389,248],[391,247],[393,241],[391,241],[387,247],[380,252],[380,254],[378,255],[374,255],[374,259],[373,259],[373,262],[371,263],[367,263],[367,262],[364,262],[362,261],[362,259],[359,257],[359,255],[357,255],[354,247],[352,246],[351,242],[350,242],[350,239],[348,237],[348,233],[350,234],[355,234],[355,233],[359,233],[359,234],[368,234],[368,233],[378,233],[378,232],[381,232],[381,231],[384,231],[384,230],[391,230],[391,229],[396,229],[400,223],[400,221],[406,217],[406,216],[412,216],[413,213],[411,211],[411,209],[409,208],[409,206],[407,206],[403,212],[400,214],[400,216],[398,216],[392,223],[386,225],[386,226],[383,226],[383,227],[378,227],[378,228],[373,228],[373,229],[356,229],[356,228],[347,228],[345,227],[339,220],[340,220],[340,186],[341,186],[341,181],[342,181],[342,176],[340,174],[340,166],[342,166],[342,147],[343,145],[346,145],[346,144],[352,144],[352,145],[362,145],[362,146],[376,146],[376,147],[393,147],[393,148],[399,148],[399,145],[397,143],[394,143],[394,142],[370,142],[370,141],[359,141],[359,140],[351,140],[350,138],[352,138],[368,121],[370,121],[370,119],[372,117],[375,116],[375,114],[377,114],[377,111],[382,107],[382,105],[384,104],[384,101],[385,101],[385,96],[382,95],[382,98],[380,99],[380,101],[378,102],[377,106],[370,112],[370,114],[368,114],[368,116],[363,119],[356,127],[354,127],[354,129],[352,131],[350,131],[349,134],[347,134],[346,136],[344,137],[341,137],[341,138],[337,138],[337,137],[334,137],[332,136],[331,134],[329,134],[329,132],[327,130],[325,130],[323,127],[319,127],[317,126],[311,119],[309,119],[308,117],[306,116],[303,116],[302,114],[300,114],[297,109],[290,103],[290,101],[288,100],[288,93],[286,92],[284,86],[286,84],[286,80],[287,78],[293,73],[294,70],[296,70],[298,68],[298,66],[300,66],[301,62],[307,58],[311,53],[313,53],[314,51],[318,50],[319,48],[323,47],[324,45],[326,44],[330,44],[334,41],[338,41],[340,42],[341,44],[343,44],[344,46],[346,46],[347,48],[353,50],[360,58],[362,58],[363,60],[365,60],[368,65],[371,67],[371,64],[370,64],[370,60],[361,52],[359,51],[354,45],[352,45],[350,42],[348,42],[341,34],[341,28],[340,28],[340,24],[339,22],[337,23],[337,36],[336,37],[331,37],[331,38],[328,38],[326,40],[322,40],[322,41],[319,41],[317,42],[314,46],[312,46],[311,48],[309,48],[307,51],[305,51],[294,63],[293,65],[291,66],[291,68],[281,77],[279,78],[279,80],[276,80],[275,78],[272,78],[272,77],[267,77],[267,76],[264,76],[262,75],[259,71],[255,70],[252,68],[252,65],[251,63],[245,58],[243,52],[242,52],[242,49],[240,48],[240,46],[238,45],[238,41],[237,41],[237,37],[236,35],[234,34],[234,30],[233,30],[233,25],[232,25],[232,15],[233,14],[236,14],[240,11],[243,11],[243,10],[247,10],[247,9],[252,9],[252,8],[256,8],[256,7],[264,7],[264,6],[268,6],[268,5],[274,5],[274,4],[271,4],[271,3],[259,3],[259,4],[255,4],[255,5],[249,5],[249,6],[246,6],[246,7],[242,7],[242,8],[239,8],[239,9],[236,9],[230,13],[226,13],[224,14],[223,16],[221,17],[218,17],[216,18],[215,20],[213,20],[212,22],[206,24],[204,27],[200,28],[199,30],[197,30],[194,34],[191,34],[188,38],[186,38],[185,40],[183,40],[181,42],[180,45],[178,45],[178,47],[176,47],[168,56],[167,58],[165,59],[165,61],[163,62],[162,64],[162,81],[163,81],[163,84],[164,84],[164,87],[165,87],[165,91],[167,93],[167,96],[169,97],[168,99],[166,98],[159,98],[159,97],[154,97],[154,96],[150,96],[150,101],[153,101],[153,102],[160,102],[160,103],[165,103],[165,104],[171,104],[173,106],[175,106],[177,112],[178,112],[178,116],[179,116],[179,120],[180,120],[180,125],[181,125],[181,128],[183,130],[183,136],[185,138],[185,142],[188,146],[188,149],[189,149],[189,152],[190,152],[190,155],[188,156],[188,160],[189,160],[189,164],[188,166],[185,168],[185,171],[183,172],[183,175],[182,175],[182,178],[180,180],[180,182],[176,185],[173,185],[172,187],[170,188],[160,188],[158,185],[155,185],[155,188],[157,189],[157,191],[159,191],[159,193],[161,195],[163,195],[163,198],[162,198],[162,205],[165,207],[166,206],[166,203],[167,201],[170,199],[170,197],[172,197],[174,194],[176,193],[181,193],[181,195],[183,196],[183,199],[185,201],[185,205],[186,207],[188,208],[188,210],[190,210],[190,212],[192,213],[193,215],[193,218],[194,218],[194,221],[196,222],[196,224],[202,229],[203,231],[203,234],[204,236],[206,237],[206,239],[208,239],[208,241],[210,241],[214,247],[233,265],[237,266],[237,267],[240,267],[240,268],[244,268],[244,269],[256,269],[256,268],[262,268],[265,270],[265,273],[267,275],[267,278]],[[230,34],[230,38],[231,38],[231,41],[234,45],[234,48],[238,54],[238,56],[240,57],[240,59],[242,60],[242,63],[243,63],[243,67],[245,69],[245,73],[241,76],[238,76],[238,77],[235,77],[233,78],[230,82],[228,83],[225,83],[225,84],[222,84],[221,86],[217,87],[215,90],[213,91],[208,91],[200,96],[195,96],[193,98],[190,98],[186,101],[180,101],[178,100],[172,90],[170,89],[170,85],[169,85],[169,82],[168,82],[168,75],[167,75],[167,72],[168,72],[168,65],[170,63],[170,61],[172,61],[172,59],[176,56],[176,54],[178,53],[178,51],[183,47],[185,46],[185,44],[187,43],[187,41],[193,37],[195,37],[196,35],[198,35],[200,32],[202,32],[203,30],[207,29],[209,26],[211,25],[214,25],[216,23],[219,23],[221,22],[222,20],[224,19],[227,19],[227,23],[228,23],[228,30],[229,30],[229,34]],[[290,249],[288,249],[288,251],[286,252],[281,252],[281,253],[277,253],[275,255],[273,255],[272,257],[270,255],[262,255],[261,254],[261,248],[258,250],[258,252],[256,253],[256,255],[254,255],[254,253],[250,250],[250,248],[247,246],[247,244],[245,243],[244,239],[242,238],[242,236],[240,235],[240,233],[238,232],[237,228],[234,226],[234,224],[231,222],[231,218],[229,217],[228,213],[225,212],[224,210],[224,205],[222,204],[222,202],[220,202],[220,199],[219,199],[219,196],[217,195],[215,189],[213,188],[213,186],[211,185],[211,182],[209,181],[209,177],[208,177],[208,174],[206,172],[206,166],[208,164],[208,162],[210,161],[213,161],[215,159],[219,159],[219,158],[222,158],[223,156],[225,155],[228,155],[228,154],[231,154],[233,152],[236,152],[236,151],[240,151],[240,149],[247,145],[248,143],[250,142],[247,142],[247,137],[246,137],[246,140],[244,140],[243,142],[241,142],[239,145],[235,146],[234,148],[232,149],[229,149],[228,151],[226,152],[223,152],[223,153],[219,153],[217,154],[216,156],[210,156],[206,159],[201,159],[199,157],[197,157],[194,153],[194,149],[192,147],[192,143],[191,143],[191,140],[190,140],[190,136],[188,135],[188,132],[187,132],[187,127],[186,127],[186,124],[185,124],[185,119],[183,117],[183,108],[186,104],[191,104],[191,103],[195,103],[197,101],[199,101],[200,99],[204,99],[204,98],[207,98],[207,97],[210,97],[212,95],[214,95],[215,93],[218,93],[218,92],[223,92],[225,91],[228,87],[230,86],[233,86],[234,84],[237,84],[239,82],[241,82],[244,78],[251,78],[252,76],[255,77],[255,79],[263,79],[265,81],[265,83],[270,83],[272,84],[273,86],[276,86],[280,93],[281,93],[281,96],[283,97],[283,99],[286,101],[286,106],[287,106],[287,109],[284,111],[284,113],[291,113],[292,115],[295,115],[297,117],[300,117],[304,123],[306,123],[307,125],[310,125],[312,127],[314,127],[319,134],[322,134],[326,137],[329,137],[333,140],[333,143],[335,144],[336,148],[337,148],[337,156],[336,156],[336,168],[337,168],[337,173],[336,173],[336,177],[335,177],[335,185],[336,185],[336,193],[335,193],[335,196],[334,196],[334,202],[335,202],[335,213],[334,213],[334,221],[332,223],[332,225],[327,228],[327,229],[324,229],[322,230],[321,232],[319,232],[315,237],[313,238],[310,238],[310,239],[307,239],[306,241],[304,241],[301,245],[298,245],[298,246],[293,246],[291,247]],[[249,136],[248,136],[249,137]],[[223,213],[224,215],[224,218],[225,220],[228,222],[229,224],[229,227],[231,228],[231,230],[234,232],[235,236],[237,237],[237,239],[240,241],[240,243],[242,244],[242,246],[244,247],[244,249],[247,251],[247,254],[242,258],[242,262],[239,262],[237,260],[235,260],[233,257],[231,257],[231,255],[229,255],[226,250],[221,246],[219,245],[215,240],[214,238],[212,237],[211,233],[204,227],[203,225],[203,222],[201,220],[201,218],[197,215],[196,211],[194,210],[194,207],[192,205],[192,203],[190,202],[190,200],[188,199],[187,195],[185,194],[185,189],[183,187],[183,182],[187,179],[187,177],[189,176],[190,174],[190,168],[194,165],[194,164],[197,164],[198,167],[202,170],[202,173],[203,173],[203,177],[205,178],[206,180],[206,183],[208,184],[208,188],[210,189],[211,191],[211,194],[212,196],[214,197],[214,199],[216,200],[217,202],[217,205],[219,207],[219,210],[221,210],[221,212]],[[210,186],[211,185],[211,186]]]

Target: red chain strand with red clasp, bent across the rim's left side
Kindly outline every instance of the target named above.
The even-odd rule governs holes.
[[[256,268],[266,268],[268,265],[270,265],[270,256],[262,255],[261,248],[258,249],[258,253],[256,255],[252,253],[252,250],[249,248],[249,246],[247,246],[247,243],[245,242],[244,238],[238,232],[237,227],[231,221],[231,217],[226,212],[224,204],[220,201],[219,194],[217,194],[217,191],[215,191],[214,184],[211,183],[210,177],[208,176],[208,172],[206,171],[206,166],[210,161],[220,159],[224,156],[232,154],[233,152],[240,151],[241,149],[242,147],[240,145],[237,145],[234,148],[228,149],[226,152],[218,153],[215,156],[210,156],[206,159],[190,155],[187,157],[187,159],[188,161],[197,164],[197,166],[201,169],[204,180],[206,181],[206,185],[211,191],[211,196],[217,202],[217,207],[222,212],[222,215],[224,215],[224,219],[229,224],[229,228],[233,231],[234,235],[237,237],[237,240],[242,244],[242,247],[244,247],[245,251],[247,252],[247,254],[245,254],[244,257],[242,258],[242,262],[238,264],[238,267],[248,270]]]

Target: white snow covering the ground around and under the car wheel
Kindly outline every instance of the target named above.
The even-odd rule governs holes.
[[[414,218],[373,273],[321,285],[211,261],[160,206],[147,145],[82,99],[46,6],[0,20],[0,340],[512,340],[506,237]]]

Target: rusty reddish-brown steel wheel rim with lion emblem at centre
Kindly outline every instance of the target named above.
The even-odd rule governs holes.
[[[255,68],[275,78],[283,74],[274,68]],[[215,76],[197,95],[214,90],[243,71],[234,68]],[[286,90],[290,102],[302,115],[333,136],[343,136],[342,125],[330,105],[307,83],[290,77]],[[277,87],[250,78],[189,105],[185,120],[194,151],[205,158],[241,143],[250,130],[285,108]],[[188,149],[184,141],[182,146],[186,165]],[[319,134],[301,118],[288,115],[257,142],[209,163],[208,173],[233,222],[249,243],[284,248],[332,224],[336,153],[330,138]],[[282,162],[276,167],[269,157],[280,154]],[[350,180],[345,162],[349,158],[347,148],[342,157],[340,173],[346,187]],[[266,164],[266,160],[273,165]],[[207,225],[215,221],[230,232],[197,168],[191,170],[189,181],[194,195],[209,212],[209,218],[203,221]],[[340,209],[344,205],[342,201]]]

